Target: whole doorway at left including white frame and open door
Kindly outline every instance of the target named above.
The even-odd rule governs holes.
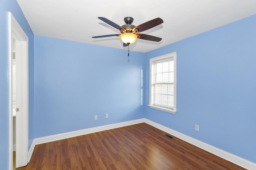
[[[28,164],[28,37],[10,12],[8,17],[9,170],[13,170]]]

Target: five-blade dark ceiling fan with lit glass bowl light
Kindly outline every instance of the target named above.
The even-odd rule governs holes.
[[[130,45],[131,43],[134,43],[137,38],[145,39],[145,40],[149,40],[149,41],[157,41],[157,42],[162,40],[162,38],[159,38],[159,37],[139,33],[139,32],[145,31],[147,29],[150,29],[152,27],[155,27],[156,25],[163,23],[164,21],[161,18],[155,18],[153,20],[150,20],[150,21],[142,23],[138,26],[135,26],[135,25],[132,25],[132,22],[133,22],[132,17],[125,17],[124,22],[126,24],[122,25],[122,27],[117,25],[116,23],[108,20],[107,18],[104,18],[104,17],[98,17],[98,18],[100,20],[106,22],[107,24],[111,25],[112,27],[119,29],[121,34],[100,35],[100,36],[95,36],[92,38],[117,36],[117,37],[121,38],[121,40],[124,44],[124,47]]]

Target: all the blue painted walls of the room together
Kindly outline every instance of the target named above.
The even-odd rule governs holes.
[[[29,37],[29,146],[37,137],[146,117],[256,163],[256,16],[146,54],[131,51],[128,58],[126,50],[34,36],[16,0],[1,0],[2,169],[8,169],[9,154],[8,11]],[[174,51],[177,113],[171,114],[147,106],[148,59]]]

